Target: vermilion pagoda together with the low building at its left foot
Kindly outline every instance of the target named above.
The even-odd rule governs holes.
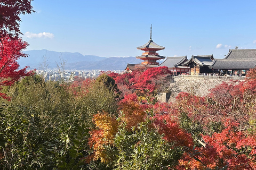
[[[132,72],[133,70],[137,69],[145,69],[146,67],[156,67],[158,66],[158,60],[164,59],[164,56],[158,55],[156,53],[158,50],[162,50],[165,47],[159,46],[152,40],[152,25],[150,27],[150,39],[148,43],[144,44],[143,46],[137,47],[137,49],[140,49],[144,51],[142,55],[136,56],[136,58],[139,58],[142,60],[141,64],[127,64],[125,70],[127,72]]]

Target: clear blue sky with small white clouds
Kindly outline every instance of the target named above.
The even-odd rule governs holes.
[[[256,1],[34,0],[21,15],[27,50],[78,52],[100,57],[140,56],[150,39],[166,57],[211,55],[256,48]]]

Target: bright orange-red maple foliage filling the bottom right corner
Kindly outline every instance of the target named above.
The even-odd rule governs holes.
[[[256,139],[240,131],[239,124],[231,120],[225,123],[226,129],[221,133],[214,133],[211,137],[203,136],[205,148],[196,148],[199,154],[191,159],[186,153],[179,160],[179,168],[202,169],[203,167],[216,169],[227,166],[227,169],[255,169],[256,168]]]

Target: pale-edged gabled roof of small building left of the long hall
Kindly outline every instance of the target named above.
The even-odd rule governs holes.
[[[190,62],[194,62],[200,66],[210,66],[212,65],[213,62],[213,55],[192,55],[192,57],[182,65],[187,65]]]

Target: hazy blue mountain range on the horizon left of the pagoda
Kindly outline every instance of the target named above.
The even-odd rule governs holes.
[[[95,55],[82,55],[80,53],[53,52],[46,49],[28,50],[27,58],[20,58],[20,67],[29,66],[30,69],[40,69],[47,65],[48,69],[57,68],[65,61],[66,70],[124,70],[127,63],[138,64],[141,60],[135,57],[99,57]],[[45,64],[44,64],[45,63]]]

